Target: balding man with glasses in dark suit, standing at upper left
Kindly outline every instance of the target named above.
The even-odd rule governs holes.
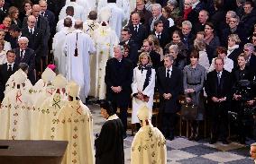
[[[41,68],[41,56],[43,56],[42,51],[44,46],[42,32],[41,30],[35,28],[35,22],[35,17],[33,15],[30,15],[28,18],[28,26],[24,27],[22,30],[22,36],[29,39],[28,47],[34,50],[36,71],[37,73],[39,73],[43,70],[43,68]]]

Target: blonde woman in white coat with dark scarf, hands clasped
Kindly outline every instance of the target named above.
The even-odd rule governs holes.
[[[146,52],[142,52],[139,56],[138,66],[133,69],[132,124],[140,123],[137,117],[137,112],[142,105],[146,104],[151,110],[150,113],[152,113],[155,75],[156,71],[152,68],[151,56]]]

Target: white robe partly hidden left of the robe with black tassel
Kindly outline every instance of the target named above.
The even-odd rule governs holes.
[[[54,63],[57,66],[58,73],[66,73],[67,56],[63,52],[63,44],[66,36],[72,32],[71,28],[63,28],[54,35],[52,41],[52,51],[54,55]]]

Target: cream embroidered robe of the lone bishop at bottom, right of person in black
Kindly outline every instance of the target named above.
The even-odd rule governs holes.
[[[133,139],[131,164],[142,163],[167,163],[166,140],[153,125],[142,126]]]

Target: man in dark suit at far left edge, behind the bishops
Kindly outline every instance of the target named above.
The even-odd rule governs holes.
[[[7,51],[6,58],[7,63],[0,65],[0,101],[5,97],[5,83],[9,77],[18,70],[18,65],[14,63],[15,52],[13,50]]]

